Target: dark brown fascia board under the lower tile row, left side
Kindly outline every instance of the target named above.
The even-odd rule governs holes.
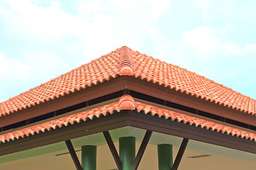
[[[34,134],[23,139],[1,143],[0,156],[125,126],[127,126],[127,112],[122,111],[122,113],[106,115],[105,117],[68,125],[67,127],[57,128],[56,130],[50,130],[38,135]]]

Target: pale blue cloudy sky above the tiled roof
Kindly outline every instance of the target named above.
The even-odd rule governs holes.
[[[127,45],[256,98],[256,1],[0,1],[0,102]]]

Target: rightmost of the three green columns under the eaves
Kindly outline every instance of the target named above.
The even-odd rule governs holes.
[[[157,145],[159,170],[170,170],[173,166],[173,146],[169,144]]]

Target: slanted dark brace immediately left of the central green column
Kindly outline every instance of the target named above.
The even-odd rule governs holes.
[[[110,152],[112,153],[112,156],[114,158],[114,162],[117,164],[117,168],[119,170],[122,170],[122,162],[121,159],[117,153],[117,149],[114,147],[114,142],[110,136],[110,132],[105,131],[103,132],[103,135],[105,137],[105,140],[107,141],[107,145],[110,147]]]

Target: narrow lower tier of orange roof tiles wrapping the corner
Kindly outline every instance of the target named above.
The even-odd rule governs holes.
[[[252,132],[247,132],[245,130],[240,130],[237,128],[232,128],[227,125],[221,125],[219,123],[213,123],[208,120],[203,120],[201,118],[195,118],[191,115],[184,115],[182,113],[177,113],[174,111],[169,111],[164,108],[159,108],[156,106],[151,106],[145,103],[134,102],[132,96],[122,96],[119,102],[114,102],[107,104],[105,106],[100,106],[98,108],[93,108],[89,111],[83,111],[81,113],[76,113],[74,115],[68,115],[63,118],[58,118],[56,120],[50,120],[46,123],[41,123],[39,125],[33,125],[29,128],[23,128],[21,130],[15,130],[13,132],[8,132],[6,134],[0,135],[0,142],[9,142],[10,140],[18,140],[20,138],[28,137],[29,135],[36,135],[40,132],[46,132],[54,130],[56,128],[62,128],[64,126],[73,125],[74,123],[80,123],[86,120],[92,120],[93,118],[99,118],[100,115],[107,115],[118,113],[122,109],[120,105],[124,102],[132,102],[135,104],[135,108],[124,108],[128,110],[136,109],[139,113],[150,114],[152,116],[157,115],[159,118],[165,118],[172,121],[177,120],[178,123],[184,123],[188,125],[196,125],[198,128],[206,128],[207,130],[212,130],[216,132],[227,133],[228,135],[237,136],[245,138],[246,140],[255,140],[256,134]],[[122,106],[121,106],[122,107]]]

